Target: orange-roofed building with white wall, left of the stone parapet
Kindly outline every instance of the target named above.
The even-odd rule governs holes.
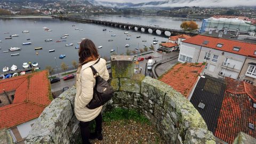
[[[23,142],[42,111],[51,103],[46,70],[0,81],[0,129]]]

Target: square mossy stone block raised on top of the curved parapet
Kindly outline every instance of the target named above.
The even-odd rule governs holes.
[[[113,78],[131,78],[134,73],[134,56],[112,55],[111,74]]]

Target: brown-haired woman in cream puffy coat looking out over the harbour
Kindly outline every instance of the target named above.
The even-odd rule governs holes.
[[[98,50],[90,39],[81,42],[78,51],[79,66],[76,74],[76,97],[75,97],[75,115],[79,120],[83,144],[90,143],[89,139],[102,140],[102,106],[95,109],[88,109],[86,105],[92,100],[95,78],[93,77],[93,66],[99,75],[106,81],[109,78],[106,67],[106,60],[99,58]],[[95,132],[90,133],[90,121],[95,119]]]

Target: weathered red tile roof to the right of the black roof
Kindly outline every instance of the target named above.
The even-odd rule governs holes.
[[[256,109],[253,108],[256,101],[252,99],[255,98],[255,86],[227,77],[225,82],[227,88],[214,135],[228,143],[232,143],[241,131],[256,138],[255,128],[248,127],[249,123],[256,125]]]

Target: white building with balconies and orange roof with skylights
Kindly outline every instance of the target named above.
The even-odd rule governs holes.
[[[178,61],[206,62],[205,74],[217,78],[238,79],[248,70],[251,71],[250,75],[256,74],[255,69],[252,71],[249,66],[244,65],[247,57],[253,59],[250,63],[256,63],[256,59],[253,58],[255,56],[256,44],[197,35],[182,42]],[[244,67],[247,67],[247,70],[242,71],[242,74],[241,70]],[[242,78],[245,79],[244,76]]]

